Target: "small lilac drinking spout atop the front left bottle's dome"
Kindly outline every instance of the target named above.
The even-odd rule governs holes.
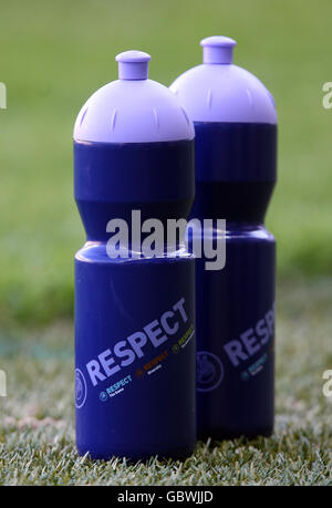
[[[143,51],[124,51],[115,56],[120,80],[147,80],[151,55]]]

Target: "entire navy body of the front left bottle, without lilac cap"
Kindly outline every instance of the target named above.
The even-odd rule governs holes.
[[[185,458],[196,443],[194,258],[137,257],[129,234],[128,257],[111,259],[106,227],[121,218],[131,232],[133,210],[142,222],[186,217],[194,142],[75,142],[74,167],[87,237],[75,257],[79,453]]]

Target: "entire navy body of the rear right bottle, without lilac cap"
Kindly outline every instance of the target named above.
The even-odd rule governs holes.
[[[276,241],[263,220],[276,182],[277,127],[197,122],[195,132],[191,216],[226,219],[225,268],[209,271],[205,259],[196,261],[198,437],[268,436]]]

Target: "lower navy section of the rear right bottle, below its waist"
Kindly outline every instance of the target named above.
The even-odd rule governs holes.
[[[274,403],[276,242],[227,225],[226,266],[196,265],[197,415],[203,439],[269,436]]]

